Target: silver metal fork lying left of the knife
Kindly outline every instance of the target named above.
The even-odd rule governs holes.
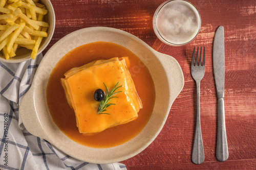
[[[199,46],[197,47],[197,58],[194,63],[195,51],[196,51],[196,46],[194,47],[194,52],[193,52],[193,57],[191,62],[191,75],[197,84],[197,122],[196,122],[194,146],[192,151],[192,161],[195,164],[200,164],[200,163],[203,163],[204,161],[204,148],[203,148],[203,139],[202,139],[202,133],[201,133],[201,125],[200,125],[200,81],[204,77],[205,46],[204,46],[204,52],[203,52],[203,65],[201,62],[202,46],[200,50],[199,61],[198,61]]]

